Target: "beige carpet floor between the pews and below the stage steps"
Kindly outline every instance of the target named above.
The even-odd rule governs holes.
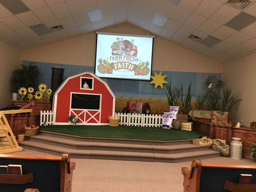
[[[50,155],[29,149],[10,154]],[[72,192],[182,192],[182,167],[191,161],[160,163],[99,159],[71,159],[76,163]],[[256,165],[253,160],[229,157],[202,159],[205,163]]]

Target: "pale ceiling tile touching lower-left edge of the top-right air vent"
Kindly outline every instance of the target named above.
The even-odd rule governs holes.
[[[225,24],[240,12],[240,10],[224,4],[210,17],[210,19],[218,23]]]

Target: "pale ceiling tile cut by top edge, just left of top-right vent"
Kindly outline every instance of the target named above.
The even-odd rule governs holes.
[[[216,0],[203,0],[200,5],[195,9],[194,13],[204,17],[210,17],[217,11],[223,3]]]

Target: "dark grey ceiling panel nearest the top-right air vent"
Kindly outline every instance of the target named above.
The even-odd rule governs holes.
[[[242,12],[236,17],[234,17],[233,19],[231,19],[225,25],[239,31],[245,28],[246,26],[250,25],[251,23],[254,23],[255,21],[256,21],[256,17]]]

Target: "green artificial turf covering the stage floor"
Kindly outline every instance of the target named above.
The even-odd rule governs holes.
[[[129,138],[172,141],[181,139],[194,139],[204,136],[196,131],[184,131],[174,129],[163,129],[161,127],[135,127],[118,126],[111,127],[107,125],[89,126],[89,125],[51,125],[40,127],[40,130],[52,131],[57,133],[77,135],[84,137],[110,137],[110,138]]]

